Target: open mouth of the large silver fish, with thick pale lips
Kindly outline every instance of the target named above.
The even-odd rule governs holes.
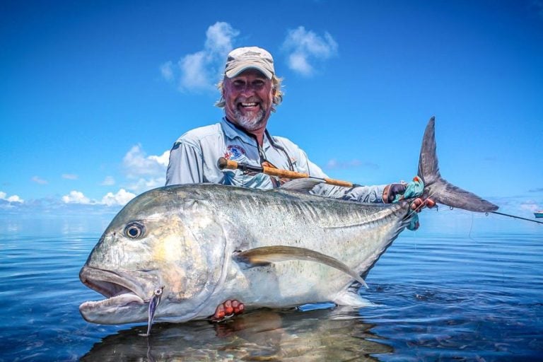
[[[87,322],[119,324],[147,319],[148,298],[153,295],[153,285],[156,284],[150,280],[156,278],[150,278],[147,272],[110,271],[85,266],[79,272],[79,279],[106,297],[79,306],[79,312]]]

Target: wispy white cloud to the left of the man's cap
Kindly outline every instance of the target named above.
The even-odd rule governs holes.
[[[226,55],[240,34],[228,23],[217,22],[206,30],[204,49],[186,54],[174,66],[172,61],[160,66],[166,81],[177,82],[180,91],[213,91],[223,72]]]

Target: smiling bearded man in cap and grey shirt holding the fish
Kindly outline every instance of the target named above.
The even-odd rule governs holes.
[[[221,157],[252,166],[271,165],[313,177],[327,177],[296,144],[267,132],[269,116],[283,99],[281,79],[275,74],[269,52],[259,47],[234,49],[228,54],[218,88],[221,99],[216,105],[224,108],[225,117],[217,124],[192,129],[175,142],[166,185],[214,182],[271,189],[281,183],[262,173],[247,175],[241,170],[220,170],[217,160]],[[354,188],[320,184],[311,192],[356,202],[390,203],[405,189],[404,184]],[[430,201],[417,199],[411,207],[419,211],[425,204],[430,206]],[[243,303],[226,300],[218,306],[213,319],[221,320],[225,315],[242,311]]]

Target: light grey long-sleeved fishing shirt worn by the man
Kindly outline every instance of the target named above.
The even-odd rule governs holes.
[[[218,158],[259,167],[264,160],[276,168],[307,173],[312,177],[328,177],[312,163],[303,150],[284,137],[269,136],[266,132],[262,147],[257,139],[223,118],[220,123],[199,127],[183,134],[170,151],[166,172],[166,186],[211,182],[223,185],[271,189],[269,175],[244,174],[242,170],[221,170]],[[358,202],[383,202],[386,185],[340,187],[320,184],[313,194]]]

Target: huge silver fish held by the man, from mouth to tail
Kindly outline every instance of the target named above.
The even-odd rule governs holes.
[[[436,202],[498,209],[440,177],[433,118],[418,175],[424,195]],[[349,287],[354,280],[363,283],[360,276],[407,226],[412,199],[360,204],[289,184],[267,191],[176,185],[139,195],[115,216],[81,269],[81,281],[107,297],[81,304],[81,314],[101,324],[152,320],[148,301],[161,286],[153,313],[170,322],[209,317],[227,299],[249,308],[363,305]]]

